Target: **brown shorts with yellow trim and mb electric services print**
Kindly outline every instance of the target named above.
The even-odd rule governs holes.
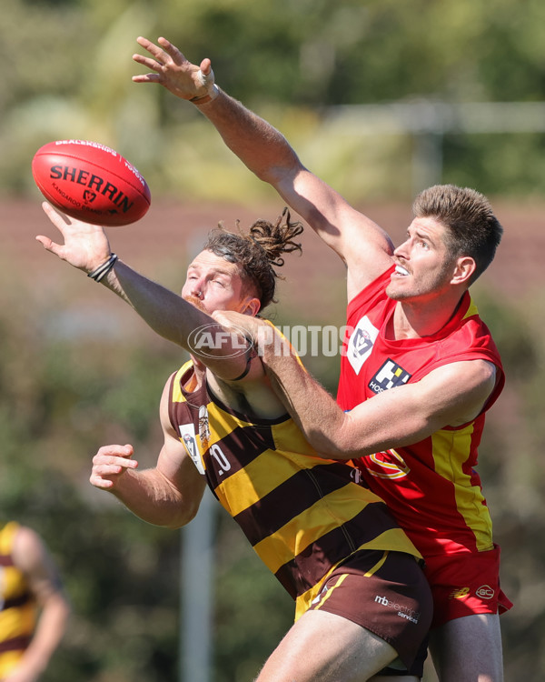
[[[432,601],[421,567],[411,555],[357,552],[328,577],[309,608],[318,609],[352,620],[397,651],[401,662],[382,674],[422,676]]]

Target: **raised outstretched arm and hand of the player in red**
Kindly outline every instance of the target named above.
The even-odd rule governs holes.
[[[165,38],[159,38],[159,45],[142,37],[138,43],[152,57],[134,55],[134,60],[154,73],[135,75],[134,82],[158,83],[182,99],[211,91],[213,72],[209,59],[204,59],[199,68]],[[207,80],[206,85],[197,77],[199,73]],[[198,106],[233,153],[263,182],[274,187],[346,263],[349,296],[391,265],[392,245],[387,234],[307,170],[272,125],[221,90]]]

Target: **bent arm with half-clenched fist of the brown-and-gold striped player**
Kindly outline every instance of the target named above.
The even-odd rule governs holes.
[[[144,521],[178,528],[197,513],[205,482],[170,424],[168,386],[169,382],[161,398],[164,443],[156,466],[137,471],[132,446],[104,446],[94,456],[90,482],[111,492]]]

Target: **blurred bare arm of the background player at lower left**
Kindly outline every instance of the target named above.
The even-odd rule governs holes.
[[[44,672],[64,637],[70,606],[52,558],[40,537],[30,528],[18,530],[13,558],[40,609],[31,643],[13,675],[18,682],[34,682]],[[10,679],[12,677],[8,676],[6,682]]]

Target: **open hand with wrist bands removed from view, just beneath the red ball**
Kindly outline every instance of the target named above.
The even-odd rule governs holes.
[[[47,202],[42,208],[64,238],[64,244],[57,244],[48,236],[36,236],[47,251],[85,272],[92,272],[108,260],[110,244],[101,226],[66,216]]]

